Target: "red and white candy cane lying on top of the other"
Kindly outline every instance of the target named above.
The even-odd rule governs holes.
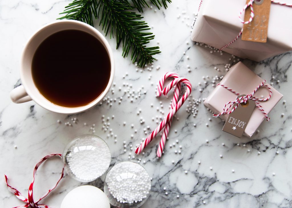
[[[168,115],[161,121],[159,126],[145,139],[144,142],[136,149],[135,153],[140,154],[143,149],[153,140],[153,138],[166,126],[166,124],[169,122],[169,120],[174,116],[174,114],[180,109],[180,107],[183,105],[183,103],[187,100],[187,97],[191,94],[192,92],[192,84],[190,83],[189,80],[185,78],[176,78],[173,80],[171,83],[169,83],[163,90],[163,94],[167,95],[167,93],[170,91],[172,87],[179,83],[185,83],[187,86],[187,91],[185,94],[180,98],[178,103],[174,106],[173,109],[170,110]]]

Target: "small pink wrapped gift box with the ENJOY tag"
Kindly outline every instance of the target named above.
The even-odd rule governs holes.
[[[225,75],[221,80],[221,84],[224,84],[226,87],[231,88],[239,94],[251,94],[251,92],[256,89],[256,87],[262,83],[263,80],[246,67],[242,62],[239,62],[230,68],[230,71]],[[260,102],[260,105],[263,107],[265,112],[269,112],[273,107],[279,102],[283,97],[281,93],[271,87],[272,96],[268,101]],[[270,91],[266,87],[260,87],[254,94],[255,97],[260,98],[264,96],[267,98],[270,95]],[[212,110],[215,114],[219,114],[223,111],[224,105],[229,101],[234,101],[237,98],[237,95],[233,92],[225,89],[224,87],[218,85],[214,91],[206,98],[204,105]],[[223,114],[220,116],[224,121],[227,120],[228,114]],[[244,135],[251,137],[256,129],[260,126],[262,121],[265,119],[265,115],[257,108],[253,110],[251,118],[246,125]],[[272,119],[272,118],[271,118]]]

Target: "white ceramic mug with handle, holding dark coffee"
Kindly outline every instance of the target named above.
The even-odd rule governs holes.
[[[111,73],[109,77],[109,82],[105,90],[94,101],[92,101],[88,105],[81,106],[81,107],[62,107],[59,105],[55,105],[54,103],[48,101],[44,96],[41,95],[41,93],[36,88],[34,81],[32,79],[32,58],[34,56],[34,52],[39,47],[41,42],[45,40],[48,36],[58,31],[68,30],[68,29],[82,30],[96,37],[105,46],[109,55],[110,63],[111,63]],[[31,38],[29,38],[22,52],[22,58],[21,58],[21,63],[20,63],[20,78],[21,78],[22,85],[20,85],[19,87],[16,87],[10,93],[11,100],[14,103],[24,103],[24,102],[33,100],[34,102],[39,104],[41,107],[44,107],[45,109],[53,111],[53,112],[64,113],[64,114],[79,113],[79,112],[88,110],[91,107],[98,104],[109,91],[112,85],[112,82],[114,80],[114,57],[113,57],[112,50],[109,46],[109,43],[107,42],[105,37],[94,27],[91,27],[90,25],[84,22],[79,22],[75,20],[59,20],[59,21],[46,24],[41,29],[36,31],[31,36]]]

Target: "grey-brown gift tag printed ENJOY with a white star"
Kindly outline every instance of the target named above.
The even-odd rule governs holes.
[[[237,96],[237,98],[241,96],[245,95]],[[235,105],[236,104],[234,104],[233,107]],[[256,103],[252,100],[248,100],[245,105],[244,103],[238,105],[238,107],[229,114],[222,131],[241,138],[255,106]]]

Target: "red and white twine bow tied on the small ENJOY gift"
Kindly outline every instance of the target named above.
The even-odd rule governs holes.
[[[256,87],[256,89],[251,93],[251,94],[248,94],[246,96],[241,96],[239,98],[237,98],[235,101],[230,101],[228,103],[226,103],[223,107],[223,112],[221,112],[220,114],[214,114],[213,117],[217,118],[223,114],[230,114],[232,113],[241,103],[245,103],[248,101],[248,100],[252,100],[256,103],[256,107],[265,115],[267,121],[270,120],[270,118],[268,117],[268,114],[265,112],[265,110],[263,109],[263,107],[260,105],[260,103],[258,101],[261,101],[261,102],[264,102],[264,101],[268,101],[271,96],[272,96],[272,90],[271,88],[265,84],[266,80],[264,80],[258,87]],[[223,84],[220,84],[218,83],[217,85],[220,85],[222,87],[224,87],[225,89],[228,89],[229,91],[233,92],[234,94],[237,94],[237,95],[241,95],[239,93],[237,93],[236,91],[226,87],[225,85]],[[265,86],[269,89],[270,91],[270,95],[265,98],[265,99],[259,99],[259,98],[256,98],[254,97],[253,95],[255,94],[255,92],[262,86]],[[234,107],[232,107],[234,104],[236,104]],[[232,109],[230,110],[230,108],[232,107]]]

